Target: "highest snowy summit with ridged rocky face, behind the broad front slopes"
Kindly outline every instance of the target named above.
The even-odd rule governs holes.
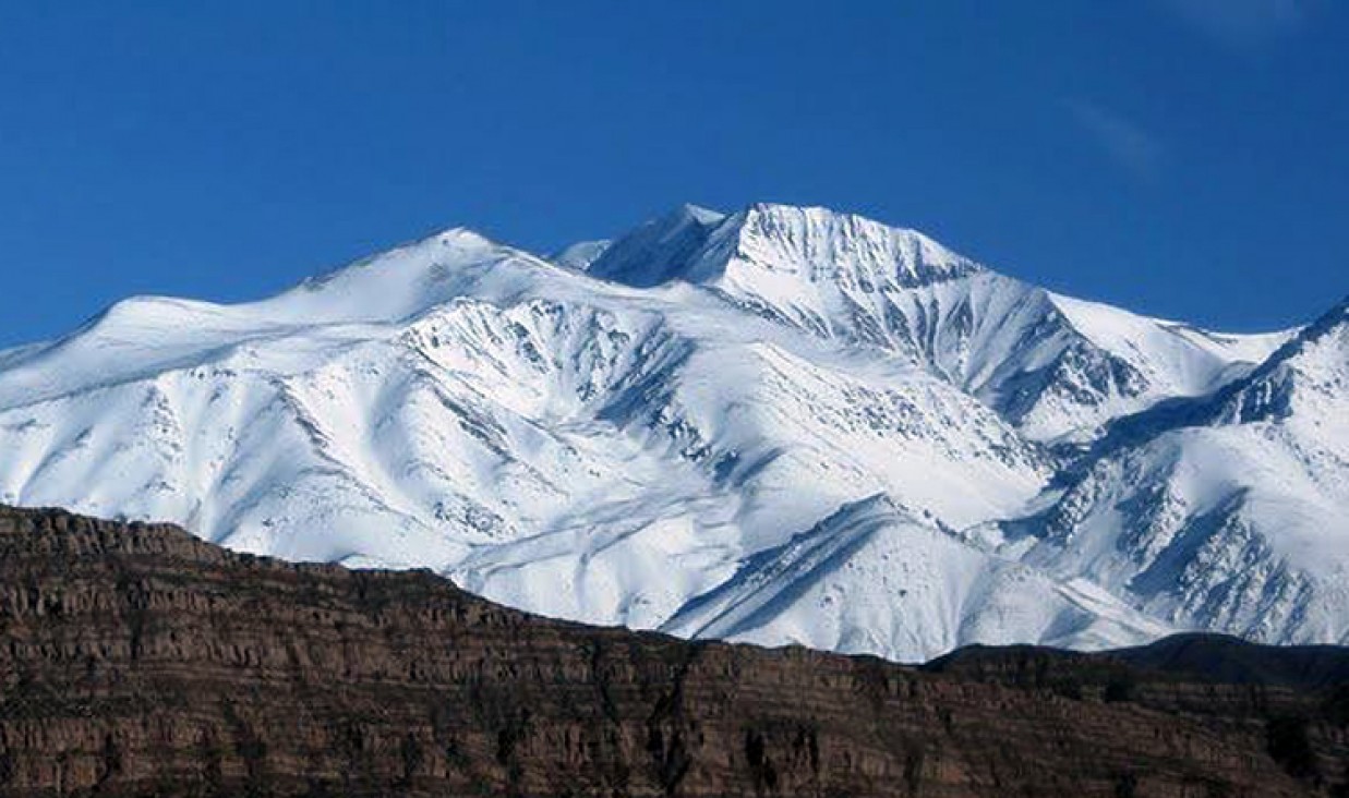
[[[921,233],[822,208],[684,209],[621,239],[591,271],[695,283],[822,338],[900,355],[1035,439],[1090,439],[1160,399],[1201,395],[1286,336],[1217,336],[1068,299]]]

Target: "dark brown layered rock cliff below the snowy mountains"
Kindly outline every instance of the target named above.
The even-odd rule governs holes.
[[[1349,655],[1207,640],[905,667],[0,508],[0,794],[1344,794]]]

